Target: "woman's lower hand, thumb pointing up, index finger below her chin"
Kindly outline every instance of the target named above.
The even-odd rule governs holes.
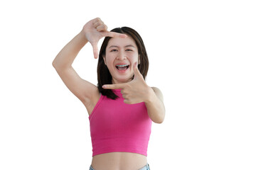
[[[122,89],[121,93],[124,103],[134,104],[149,101],[153,89],[146,84],[142,74],[139,72],[137,62],[134,63],[134,79],[124,84],[106,84],[103,89]],[[154,92],[154,91],[153,91]]]

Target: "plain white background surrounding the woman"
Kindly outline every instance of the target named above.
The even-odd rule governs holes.
[[[1,1],[0,169],[89,169],[87,111],[52,62],[96,17],[109,30],[139,32],[146,81],[164,94],[151,169],[256,169],[255,8],[245,0]],[[97,84],[90,44],[73,67]]]

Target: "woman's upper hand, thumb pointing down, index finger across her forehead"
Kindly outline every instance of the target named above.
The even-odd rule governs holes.
[[[103,37],[127,38],[127,35],[114,33],[107,30],[107,26],[100,18],[92,19],[82,28],[85,38],[91,43],[95,59],[98,57],[97,43]]]

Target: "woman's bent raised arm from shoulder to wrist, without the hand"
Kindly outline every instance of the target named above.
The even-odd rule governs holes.
[[[82,101],[87,111],[91,112],[90,105],[97,100],[100,93],[97,90],[97,86],[81,79],[72,67],[75,57],[87,42],[85,33],[83,31],[78,33],[55,57],[53,67],[68,89]]]

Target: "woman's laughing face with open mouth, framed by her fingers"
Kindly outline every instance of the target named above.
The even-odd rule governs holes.
[[[103,59],[112,75],[112,84],[129,82],[134,75],[134,63],[139,64],[137,45],[129,36],[127,38],[111,38]]]

